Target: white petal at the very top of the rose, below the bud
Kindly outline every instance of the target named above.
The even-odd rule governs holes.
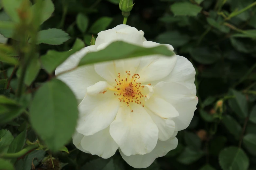
[[[123,28],[121,28],[123,27]],[[120,29],[121,28],[121,29]],[[115,30],[118,29],[118,30]],[[125,41],[131,44],[142,46],[143,34],[134,27],[117,26],[114,29],[101,31],[95,41],[95,46],[98,47],[103,43],[111,43],[114,41]],[[117,49],[118,50],[118,49]]]

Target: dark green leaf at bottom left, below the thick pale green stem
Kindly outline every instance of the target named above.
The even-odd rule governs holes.
[[[45,155],[44,150],[34,150],[29,154],[27,154],[23,159],[23,163],[20,164],[20,166],[22,165],[23,167],[22,170],[31,170],[32,163],[34,164],[35,167],[39,165],[39,163],[43,160],[44,155]]]

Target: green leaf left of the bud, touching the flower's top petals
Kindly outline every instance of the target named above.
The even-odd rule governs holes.
[[[101,17],[93,23],[89,32],[93,34],[97,34],[103,30],[106,30],[112,21],[113,21],[113,18]]]

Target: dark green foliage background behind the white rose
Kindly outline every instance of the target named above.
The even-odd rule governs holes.
[[[179,8],[182,2],[194,6]],[[41,25],[41,30],[62,29],[70,38],[63,35],[68,40],[58,46],[40,44],[40,56],[48,50],[70,50],[77,38],[88,46],[92,35],[96,37],[99,31],[123,23],[118,0],[53,0],[53,3],[55,11]],[[255,4],[255,0],[134,0],[134,3],[127,24],[143,30],[147,40],[171,44],[177,55],[186,57],[194,65],[199,100],[190,126],[178,133],[177,149],[156,159],[146,169],[255,170],[256,6],[228,18],[231,12]],[[201,11],[199,6],[202,7]],[[187,13],[192,8],[199,8],[200,12]],[[95,24],[95,21],[98,23]],[[9,39],[8,44],[11,43]],[[4,72],[9,78],[13,66],[3,64],[1,70],[1,78]],[[26,90],[33,93],[43,82],[54,77],[53,73],[48,73],[52,69],[49,70],[42,68],[32,84],[26,86]],[[10,86],[10,92],[1,87],[1,94],[13,95],[17,88],[16,75]],[[26,95],[24,101],[29,103],[31,96]],[[26,137],[33,142],[38,136],[27,120],[26,115],[22,114],[12,121],[4,122],[0,128],[9,130],[14,137],[27,129]],[[104,160],[79,151],[71,140],[66,147],[69,154],[61,151],[52,154],[62,166],[65,165],[63,170],[133,169],[122,160],[118,151],[112,158]],[[22,159],[23,162],[12,162],[16,162],[17,170],[29,170],[31,158],[43,160],[44,155],[51,153],[46,152],[33,151]],[[59,162],[54,162],[56,168]],[[45,164],[51,162],[46,161]],[[38,165],[38,170],[47,167],[45,164],[34,163]]]

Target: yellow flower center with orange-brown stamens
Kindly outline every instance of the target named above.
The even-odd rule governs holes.
[[[130,71],[126,71],[126,75],[121,78],[121,74],[118,73],[118,79],[115,79],[116,86],[114,93],[118,97],[120,102],[126,103],[129,106],[130,103],[136,103],[144,107],[146,95],[142,94],[142,89],[145,87],[138,83],[137,80],[140,79],[139,74],[133,74],[131,76]]]

